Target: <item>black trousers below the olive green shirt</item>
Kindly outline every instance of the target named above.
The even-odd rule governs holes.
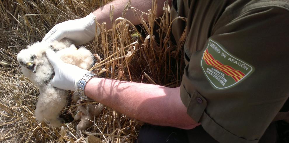
[[[275,123],[271,123],[259,143],[277,143]],[[191,130],[145,124],[140,128],[136,143],[218,143],[202,126]]]

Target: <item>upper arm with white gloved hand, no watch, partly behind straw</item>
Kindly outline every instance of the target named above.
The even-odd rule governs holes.
[[[157,13],[156,16],[160,16],[163,11],[165,0],[159,0],[157,1]],[[61,40],[63,38],[68,38],[72,41],[74,41],[75,45],[81,45],[84,43],[89,42],[92,40],[95,35],[99,34],[99,31],[96,31],[95,27],[95,20],[98,21],[98,23],[107,23],[107,29],[111,28],[111,21],[110,21],[110,6],[114,6],[114,20],[118,17],[122,16],[123,9],[127,5],[128,0],[115,0],[111,3],[108,3],[105,6],[102,6],[101,8],[95,10],[93,13],[90,13],[90,15],[87,15],[86,17],[83,17],[81,19],[75,19],[75,20],[68,20],[59,24],[56,24],[48,33],[44,36],[42,42],[52,42],[54,40]],[[170,3],[170,0],[169,0]],[[147,12],[147,10],[152,8],[152,0],[133,0],[131,1],[131,6],[143,11]],[[132,24],[140,24],[140,15],[137,15],[138,17],[134,16],[134,13],[132,10],[128,10],[126,13],[126,16],[124,18],[127,18]],[[144,17],[147,18],[147,17]]]

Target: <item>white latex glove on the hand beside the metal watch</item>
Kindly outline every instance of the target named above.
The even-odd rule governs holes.
[[[78,82],[88,70],[79,68],[69,63],[64,63],[51,49],[46,50],[46,56],[51,63],[55,75],[51,85],[59,89],[77,91]]]

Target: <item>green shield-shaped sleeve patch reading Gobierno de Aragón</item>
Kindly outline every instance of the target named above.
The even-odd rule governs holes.
[[[231,88],[253,73],[253,66],[234,57],[219,43],[209,39],[207,44],[201,67],[213,88]]]

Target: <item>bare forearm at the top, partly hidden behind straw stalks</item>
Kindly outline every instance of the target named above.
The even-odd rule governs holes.
[[[157,1],[157,13],[156,16],[160,16],[163,13],[163,6],[164,2],[166,0],[158,0]],[[171,0],[169,0],[170,3]],[[108,3],[105,6],[102,6],[101,8],[95,10],[93,14],[95,15],[96,19],[98,20],[98,23],[106,22],[107,23],[107,29],[111,28],[111,21],[109,18],[109,11],[110,11],[110,6],[114,6],[114,20],[118,17],[122,16],[122,12],[127,5],[128,0],[115,0],[112,1],[111,3]],[[148,13],[147,10],[152,8],[152,3],[153,0],[132,0],[131,1],[131,6],[136,8],[137,11],[141,14],[141,12]],[[132,22],[134,25],[140,24],[140,15],[137,15],[135,17],[134,13],[132,10],[128,10],[125,17],[128,19],[130,22]],[[144,16],[144,18],[147,18]]]

